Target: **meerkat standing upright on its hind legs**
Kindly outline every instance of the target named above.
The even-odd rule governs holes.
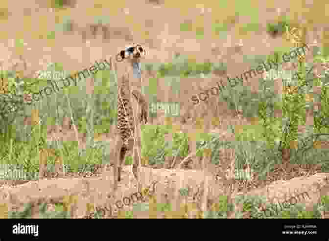
[[[146,124],[148,104],[142,94],[141,57],[145,50],[134,44],[117,54],[123,68],[118,77],[118,126],[114,149],[114,190],[121,180],[122,163],[128,151],[133,151],[133,174],[139,182],[141,163],[141,124]],[[115,69],[118,70],[115,62]],[[139,183],[140,184],[140,183]],[[139,189],[140,189],[139,185]]]

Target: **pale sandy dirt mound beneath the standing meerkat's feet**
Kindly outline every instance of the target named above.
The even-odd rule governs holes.
[[[53,178],[29,181],[16,186],[3,185],[0,188],[0,202],[6,205],[8,211],[23,211],[24,204],[33,203],[35,209],[32,217],[38,218],[37,204],[65,203],[71,198],[74,199],[71,202],[77,207],[74,217],[86,217],[89,212],[88,204],[93,204],[94,207],[113,207],[117,200],[131,197],[138,192],[131,168],[124,167],[122,171],[123,180],[119,184],[116,196],[112,193],[113,170],[111,169],[100,177]],[[158,194],[167,192],[165,189],[168,180],[170,183],[175,183],[178,188],[187,185],[196,187],[203,180],[202,172],[194,170],[153,170],[142,167],[141,176],[142,187],[150,187],[156,182],[153,190]]]

